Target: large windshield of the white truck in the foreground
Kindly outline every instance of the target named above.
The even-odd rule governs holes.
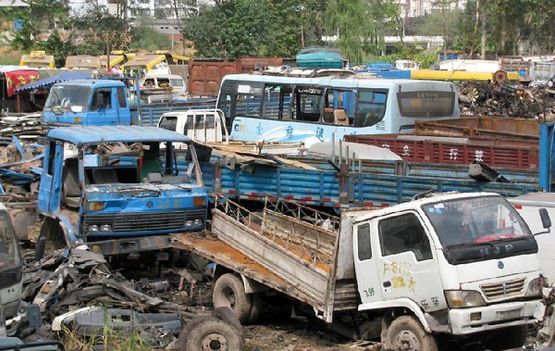
[[[530,229],[504,198],[464,198],[424,205],[443,247],[530,238]]]

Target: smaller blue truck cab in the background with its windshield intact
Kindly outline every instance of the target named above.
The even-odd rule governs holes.
[[[49,125],[131,125],[126,86],[107,79],[82,79],[57,83],[42,112]]]

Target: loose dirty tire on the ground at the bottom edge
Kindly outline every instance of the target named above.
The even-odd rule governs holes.
[[[215,317],[197,323],[185,339],[183,351],[240,351],[243,338],[234,327]]]

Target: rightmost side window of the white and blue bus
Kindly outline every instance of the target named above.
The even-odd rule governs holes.
[[[387,92],[365,90],[358,91],[355,112],[355,127],[370,127],[385,116]]]

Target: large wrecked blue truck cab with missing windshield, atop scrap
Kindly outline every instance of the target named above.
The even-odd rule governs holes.
[[[178,159],[188,161],[181,172]],[[203,229],[207,206],[189,137],[143,126],[55,128],[46,138],[37,255],[84,242],[104,254],[163,248],[169,233]]]

